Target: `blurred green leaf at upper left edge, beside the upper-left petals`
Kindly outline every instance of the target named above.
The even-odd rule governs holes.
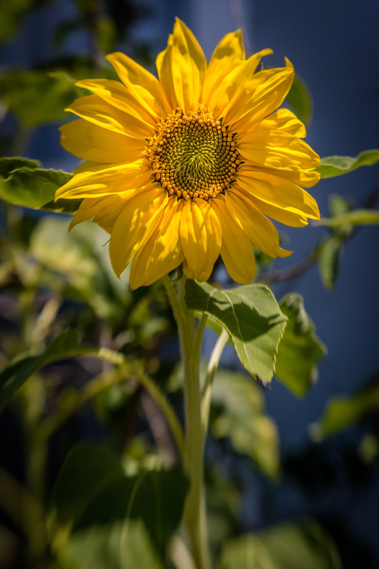
[[[62,121],[77,90],[62,76],[47,71],[7,71],[1,76],[2,101],[26,127]]]

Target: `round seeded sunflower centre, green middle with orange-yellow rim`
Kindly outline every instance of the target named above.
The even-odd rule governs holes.
[[[233,135],[203,107],[188,116],[176,109],[161,120],[146,155],[168,195],[186,201],[225,193],[241,163]]]

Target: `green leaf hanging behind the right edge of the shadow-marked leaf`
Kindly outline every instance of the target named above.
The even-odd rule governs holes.
[[[314,333],[314,323],[305,311],[302,296],[288,294],[279,305],[288,324],[278,348],[275,377],[291,393],[304,397],[317,380],[316,364],[326,348]]]

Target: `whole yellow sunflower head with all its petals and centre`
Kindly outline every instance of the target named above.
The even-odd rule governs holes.
[[[82,199],[70,228],[93,218],[110,233],[120,275],[132,261],[131,288],[183,263],[205,281],[221,255],[232,279],[251,282],[253,246],[286,257],[272,221],[293,227],[319,219],[302,187],[319,180],[319,156],[305,126],[278,109],[293,65],[257,71],[263,50],[246,59],[241,31],[220,40],[210,59],[176,19],[159,53],[159,80],[124,53],[107,56],[120,80],[78,81],[89,96],[68,107],[61,145],[85,160],[56,198]],[[278,110],[276,110],[278,109]]]

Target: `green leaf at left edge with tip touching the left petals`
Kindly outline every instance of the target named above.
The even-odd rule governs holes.
[[[24,165],[23,165],[24,164]],[[72,178],[62,170],[43,170],[37,160],[0,159],[1,199],[14,205],[56,213],[75,213],[81,200],[57,200],[55,192]]]

